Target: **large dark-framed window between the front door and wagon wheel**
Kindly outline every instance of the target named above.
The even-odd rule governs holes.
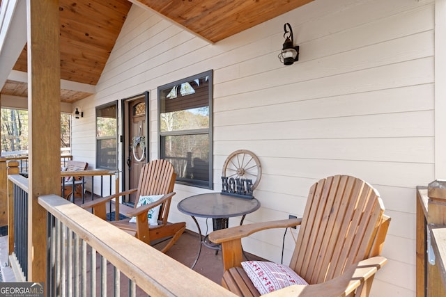
[[[160,158],[176,182],[213,188],[212,70],[158,88]]]

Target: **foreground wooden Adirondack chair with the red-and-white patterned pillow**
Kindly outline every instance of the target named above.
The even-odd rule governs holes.
[[[268,296],[368,296],[374,273],[387,259],[380,257],[390,218],[378,192],[346,175],[316,182],[309,191],[302,218],[218,230],[210,241],[222,244],[222,285],[238,296],[259,296],[241,268],[241,239],[273,227],[300,225],[289,267],[309,285],[293,284]]]

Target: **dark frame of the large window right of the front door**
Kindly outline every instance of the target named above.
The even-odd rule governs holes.
[[[202,77],[208,77],[208,107],[209,107],[209,126],[208,128],[201,129],[184,129],[176,131],[161,131],[161,92],[163,90],[174,88],[174,86],[180,85],[194,79],[200,79]],[[185,110],[185,109],[183,109]],[[176,178],[176,184],[185,184],[187,186],[196,186],[199,188],[208,188],[213,190],[213,70],[208,70],[206,72],[201,72],[199,74],[192,75],[191,77],[186,77],[185,79],[179,79],[178,81],[173,81],[171,83],[164,84],[157,88],[157,136],[158,136],[158,157],[160,159],[166,159],[165,150],[162,145],[162,138],[165,136],[187,136],[187,135],[203,135],[208,134],[209,139],[209,168],[208,168],[208,181],[201,181],[197,179],[187,179],[187,178]]]

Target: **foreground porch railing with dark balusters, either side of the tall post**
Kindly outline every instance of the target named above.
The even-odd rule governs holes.
[[[27,193],[22,175],[8,180],[17,195]],[[59,195],[41,196],[38,204],[47,211],[47,296],[235,296]],[[11,225],[26,226],[15,215]]]

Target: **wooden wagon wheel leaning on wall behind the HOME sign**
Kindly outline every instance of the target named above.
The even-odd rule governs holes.
[[[222,176],[252,179],[252,189],[254,190],[259,185],[262,176],[259,158],[249,150],[236,150],[224,161]]]

